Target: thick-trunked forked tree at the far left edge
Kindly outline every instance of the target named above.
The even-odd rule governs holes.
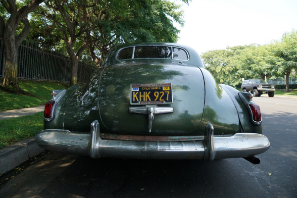
[[[43,0],[31,0],[25,5],[21,5],[15,0],[0,0],[0,2],[8,13],[6,17],[3,14],[0,16],[0,38],[3,41],[5,51],[3,84],[6,86],[11,85],[19,92],[20,88],[17,81],[18,47],[30,31],[30,22],[27,15],[34,11]],[[18,9],[18,7],[20,8]],[[17,34],[17,28],[21,22],[23,28]]]

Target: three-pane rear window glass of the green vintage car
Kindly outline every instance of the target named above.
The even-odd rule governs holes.
[[[137,59],[137,58],[165,58],[188,60],[186,50],[167,46],[136,46],[121,49],[117,55],[117,59]]]

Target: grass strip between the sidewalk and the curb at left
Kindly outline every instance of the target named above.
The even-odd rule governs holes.
[[[43,130],[43,112],[0,120],[0,148],[36,136]]]

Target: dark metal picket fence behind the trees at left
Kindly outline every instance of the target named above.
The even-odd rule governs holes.
[[[0,77],[4,77],[4,48],[0,39]],[[96,66],[78,64],[77,82],[87,82]],[[18,49],[18,79],[69,83],[71,79],[70,58],[45,49],[37,42],[22,42]]]

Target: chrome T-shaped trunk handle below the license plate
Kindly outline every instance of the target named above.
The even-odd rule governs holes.
[[[173,107],[129,107],[130,113],[141,113],[141,114],[148,114],[148,133],[151,132],[152,121],[154,119],[155,114],[162,114],[162,113],[172,113]]]

